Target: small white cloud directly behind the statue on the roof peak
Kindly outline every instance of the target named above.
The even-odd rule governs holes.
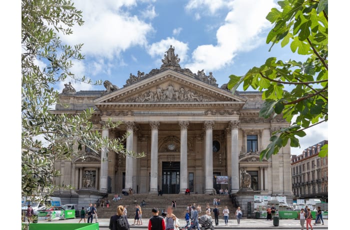
[[[158,42],[152,43],[148,46],[147,52],[151,57],[159,56],[164,58],[164,52],[170,47],[174,46],[175,54],[181,58],[181,61],[184,61],[187,58],[188,44],[182,41],[176,40],[174,37],[167,37]]]

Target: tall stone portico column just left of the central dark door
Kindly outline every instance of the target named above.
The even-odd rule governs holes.
[[[149,122],[151,127],[150,147],[150,193],[158,192],[158,128],[159,121]]]

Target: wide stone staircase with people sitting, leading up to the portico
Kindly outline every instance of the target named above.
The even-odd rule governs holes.
[[[162,196],[158,196],[156,194],[133,194],[128,196],[122,196],[122,199],[119,201],[112,201],[113,194],[108,195],[108,199],[110,201],[109,207],[106,205],[104,208],[97,207],[97,213],[99,218],[109,218],[110,216],[116,214],[116,207],[118,205],[127,205],[127,215],[129,218],[133,218],[135,215],[135,199],[136,203],[140,204],[142,199],[146,202],[145,207],[141,207],[142,209],[142,219],[148,219],[152,216],[151,209],[152,207],[157,207],[159,209],[159,214],[162,209],[166,209],[167,206],[171,205],[171,200],[176,201],[176,208],[174,208],[173,213],[179,217],[184,218],[186,214],[186,207],[188,204],[199,204],[201,206],[200,215],[205,214],[206,203],[209,203],[211,208],[211,216],[214,217],[212,210],[214,206],[212,205],[212,201],[214,197],[220,198],[220,205],[218,205],[218,209],[220,211],[220,219],[222,219],[222,210],[225,206],[228,207],[229,218],[234,218],[235,208],[232,204],[231,199],[227,195],[206,195],[206,194],[163,194]]]

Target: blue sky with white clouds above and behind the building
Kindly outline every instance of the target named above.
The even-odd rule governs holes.
[[[61,35],[64,43],[84,43],[85,59],[74,61],[72,72],[92,80],[109,80],[122,87],[130,73],[159,68],[171,44],[180,65],[192,72],[213,72],[217,83],[230,74],[242,75],[275,56],[300,60],[288,46],[265,43],[271,24],[265,16],[273,0],[73,0],[83,11],[82,26]],[[42,63],[39,63],[42,64]],[[67,79],[66,81],[69,81]],[[61,91],[65,82],[56,85]],[[102,90],[73,82],[76,90]],[[242,90],[241,87],[238,90]],[[327,139],[327,124],[307,131],[301,149]],[[301,153],[293,149],[292,154]]]

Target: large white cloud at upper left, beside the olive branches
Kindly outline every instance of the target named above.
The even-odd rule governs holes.
[[[131,15],[127,8],[136,5],[136,0],[74,0],[82,10],[82,26],[75,25],[73,34],[61,35],[69,44],[84,43],[83,53],[113,58],[121,51],[135,46],[146,45],[147,34],[153,30],[151,24]],[[120,9],[124,6],[125,12]],[[123,8],[123,9],[125,9]]]

